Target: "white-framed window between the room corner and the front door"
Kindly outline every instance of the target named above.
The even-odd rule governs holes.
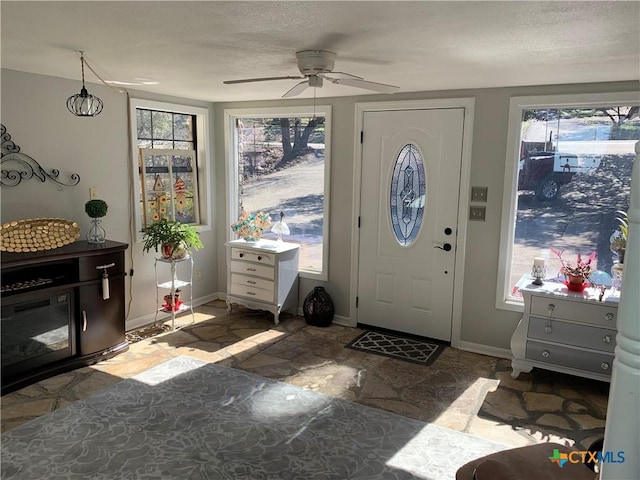
[[[330,113],[328,106],[225,111],[228,223],[243,210],[265,211],[272,223],[284,213],[285,241],[300,244],[301,275],[320,280],[328,278]]]

